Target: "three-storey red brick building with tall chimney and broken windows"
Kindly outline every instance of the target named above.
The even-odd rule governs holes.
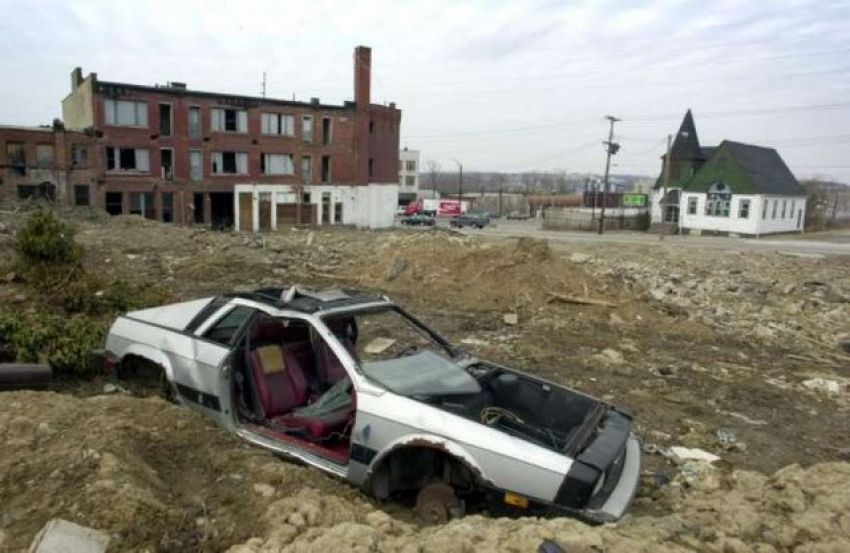
[[[254,230],[282,219],[384,226],[397,204],[401,111],[371,103],[370,73],[371,50],[357,47],[354,100],[328,105],[76,68],[62,113],[91,137],[91,202],[111,214]]]

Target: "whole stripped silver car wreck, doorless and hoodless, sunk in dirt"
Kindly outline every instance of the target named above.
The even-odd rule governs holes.
[[[477,359],[385,296],[266,288],[133,311],[104,356],[161,371],[248,443],[415,494],[432,521],[476,505],[615,521],[640,475],[628,412]]]

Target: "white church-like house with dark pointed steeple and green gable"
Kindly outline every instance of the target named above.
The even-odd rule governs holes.
[[[699,146],[690,110],[652,194],[652,222],[679,232],[802,232],[806,192],[776,150],[724,140]],[[670,184],[664,187],[665,179]]]

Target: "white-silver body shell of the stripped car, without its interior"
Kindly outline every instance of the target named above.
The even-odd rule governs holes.
[[[160,366],[180,403],[214,418],[252,444],[299,459],[378,497],[387,497],[405,485],[397,481],[393,472],[397,469],[388,459],[407,448],[405,454],[437,451],[447,456],[451,466],[462,468],[463,475],[454,478],[473,479],[476,493],[486,495],[491,503],[503,501],[527,512],[565,513],[591,522],[615,521],[626,512],[640,472],[640,447],[631,434],[627,414],[579,392],[461,354],[458,366],[480,372],[485,375],[482,378],[490,375],[510,386],[517,385],[516,378],[520,378],[522,386],[539,387],[540,391],[533,388],[535,393],[560,394],[563,399],[559,401],[592,404],[587,425],[594,427],[576,431],[586,434],[580,447],[559,451],[483,424],[474,413],[462,416],[443,404],[400,395],[367,377],[325,324],[329,317],[340,314],[400,310],[397,306],[385,297],[360,293],[290,293],[290,297],[296,295],[301,298],[300,307],[310,308],[295,308],[298,302],[273,301],[260,294],[237,294],[130,312],[113,323],[106,341],[107,355],[119,362],[132,356]],[[210,340],[208,332],[239,306],[263,316],[303,321],[343,364],[356,405],[350,438],[346,438],[350,449],[345,462],[323,455],[320,448],[276,439],[237,417],[234,346]],[[594,463],[604,466],[593,468]]]

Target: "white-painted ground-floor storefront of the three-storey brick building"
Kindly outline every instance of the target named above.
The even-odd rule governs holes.
[[[251,200],[250,210],[241,205],[248,197]],[[237,184],[234,187],[233,202],[234,227],[237,231],[276,230],[278,207],[298,204],[297,187],[289,184]],[[301,205],[312,206],[316,225],[389,228],[393,226],[398,205],[398,185],[306,185]],[[250,221],[246,216],[249,211]],[[281,223],[281,228],[283,224]]]

